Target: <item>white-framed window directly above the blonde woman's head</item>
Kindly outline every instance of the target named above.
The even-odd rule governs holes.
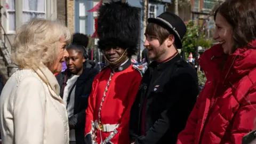
[[[20,0],[18,0],[20,1]],[[23,0],[22,22],[33,18],[46,18],[46,0]]]

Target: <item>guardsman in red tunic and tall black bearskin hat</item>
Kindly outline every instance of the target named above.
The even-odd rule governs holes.
[[[86,109],[85,142],[130,144],[130,110],[142,73],[131,64],[138,51],[139,12],[127,3],[103,4],[98,47],[109,66],[95,76]]]

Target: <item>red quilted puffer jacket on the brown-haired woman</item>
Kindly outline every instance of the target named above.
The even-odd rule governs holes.
[[[256,41],[250,44],[256,47]],[[256,49],[237,49],[222,65],[224,60],[221,45],[199,58],[207,82],[177,143],[237,144],[254,129]]]

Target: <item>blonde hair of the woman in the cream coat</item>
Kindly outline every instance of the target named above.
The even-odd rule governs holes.
[[[22,25],[15,35],[12,59],[20,68],[36,68],[42,62],[50,66],[58,57],[61,37],[70,44],[69,29],[58,21],[33,19]]]

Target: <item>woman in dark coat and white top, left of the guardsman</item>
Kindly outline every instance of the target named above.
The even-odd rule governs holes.
[[[60,96],[67,106],[70,143],[76,144],[85,144],[85,109],[93,79],[99,73],[96,63],[87,60],[88,39],[83,34],[73,35],[73,42],[67,47],[67,69],[56,76],[60,85]]]

